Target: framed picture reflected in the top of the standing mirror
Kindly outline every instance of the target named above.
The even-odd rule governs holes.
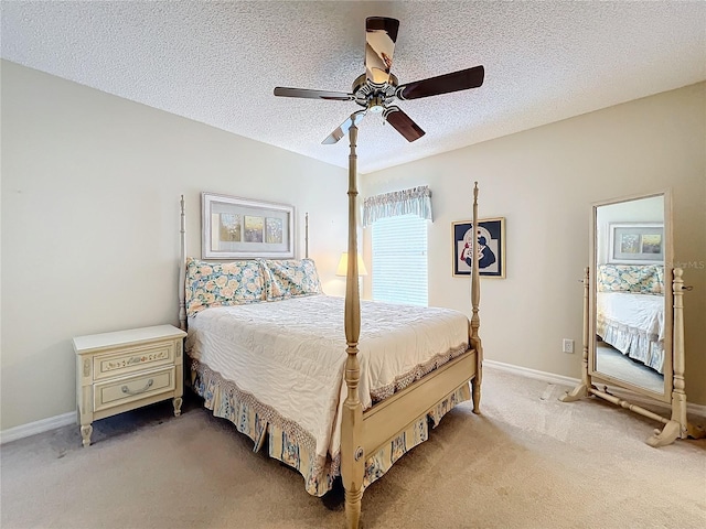
[[[664,261],[664,226],[659,223],[610,224],[608,262],[623,264]]]

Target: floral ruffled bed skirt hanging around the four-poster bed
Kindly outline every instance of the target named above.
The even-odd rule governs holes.
[[[317,456],[313,438],[297,423],[282,418],[196,360],[191,360],[191,381],[194,391],[204,399],[204,407],[212,410],[215,417],[227,419],[238,432],[250,438],[255,452],[267,441],[269,456],[296,468],[303,476],[309,494],[323,496],[331,490],[333,481],[341,474],[340,453],[333,457]],[[446,413],[470,398],[469,385],[464,384],[417,418],[389,444],[367,457],[363,489],[385,474],[405,453],[426,441],[429,425],[435,428]]]

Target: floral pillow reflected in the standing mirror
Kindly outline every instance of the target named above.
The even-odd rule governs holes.
[[[663,294],[664,267],[660,264],[600,264],[599,292]]]

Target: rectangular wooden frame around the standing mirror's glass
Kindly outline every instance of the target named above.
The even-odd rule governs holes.
[[[639,201],[642,198],[653,198],[662,196],[664,199],[664,390],[657,393],[648,388],[635,386],[625,380],[611,377],[605,373],[596,370],[596,292],[597,292],[597,251],[598,251],[598,208],[627,202]],[[672,402],[672,391],[674,389],[674,350],[673,350],[673,328],[674,328],[674,310],[673,310],[673,292],[672,279],[674,268],[674,244],[672,234],[672,193],[671,190],[662,190],[655,193],[631,195],[609,201],[601,201],[591,204],[591,223],[590,223],[590,273],[589,273],[589,323],[588,323],[588,374],[591,378],[601,380],[610,386],[624,388],[639,395],[650,397],[651,399],[662,402]]]

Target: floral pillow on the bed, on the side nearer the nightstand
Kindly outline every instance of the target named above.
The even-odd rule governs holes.
[[[186,260],[186,314],[210,306],[242,305],[263,301],[265,281],[258,260],[205,262]]]

